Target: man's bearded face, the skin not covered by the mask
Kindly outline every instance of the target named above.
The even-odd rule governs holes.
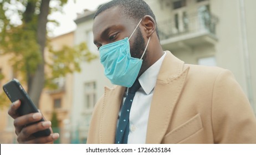
[[[139,23],[139,21],[137,21]],[[136,25],[135,21],[121,12],[119,7],[113,7],[100,13],[93,24],[94,44],[99,49],[100,46],[117,42],[118,40],[130,37]],[[141,33],[140,26],[130,39],[130,53],[134,58],[141,58],[145,49],[145,40]],[[147,51],[141,67],[143,70],[147,61]],[[141,75],[141,73],[139,73]]]

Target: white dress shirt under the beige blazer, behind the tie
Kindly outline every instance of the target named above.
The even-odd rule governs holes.
[[[130,111],[130,132],[127,143],[144,144],[146,142],[147,122],[149,120],[149,112],[153,91],[156,85],[157,75],[162,65],[163,58],[156,61],[155,64],[150,66],[140,77],[139,82],[141,88],[136,92],[134,100],[132,101]],[[126,92],[123,99],[123,104],[126,98]],[[121,114],[121,108],[119,116]]]

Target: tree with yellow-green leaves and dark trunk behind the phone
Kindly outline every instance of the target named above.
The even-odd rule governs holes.
[[[48,65],[52,70],[49,79],[45,79],[45,55],[47,46],[48,15],[62,11],[68,0],[0,0],[0,56],[12,55],[10,63],[18,75],[23,76],[23,83],[28,86],[28,94],[38,106],[45,81],[50,81],[66,73],[79,71],[79,63],[95,58],[86,44],[74,48],[64,46],[54,51],[53,60]],[[50,7],[50,3],[55,3]],[[17,20],[13,20],[17,19]],[[71,59],[70,59],[71,58]],[[20,79],[21,80],[21,79]]]

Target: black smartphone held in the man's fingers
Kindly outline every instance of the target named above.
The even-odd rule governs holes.
[[[38,112],[38,108],[33,104],[27,92],[25,92],[21,83],[17,79],[13,79],[7,82],[6,84],[4,84],[3,90],[6,93],[6,95],[9,97],[9,100],[11,100],[12,103],[17,100],[21,101],[21,106],[18,108],[19,115],[22,116],[22,115],[27,115],[28,113]],[[44,121],[44,119],[42,118],[42,120],[40,121]],[[34,122],[34,123],[38,123],[38,122]],[[29,124],[29,125],[32,125],[32,124]],[[35,137],[43,137],[43,136],[49,136],[49,135],[50,135],[49,128],[33,133],[33,136]]]

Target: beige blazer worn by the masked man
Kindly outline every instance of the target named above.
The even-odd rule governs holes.
[[[166,51],[150,108],[146,143],[256,143],[256,118],[230,71],[187,65]],[[105,87],[88,143],[114,143],[125,87]]]

